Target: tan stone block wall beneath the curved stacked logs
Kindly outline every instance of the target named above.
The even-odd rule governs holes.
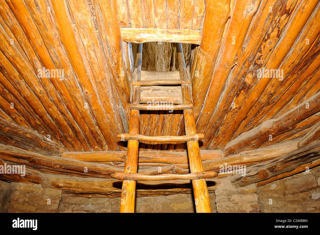
[[[212,212],[314,212],[320,210],[320,166],[256,187],[235,188],[230,176],[210,193]],[[64,196],[47,185],[0,182],[0,212],[118,212],[119,198]],[[136,199],[136,212],[195,212],[192,194]]]

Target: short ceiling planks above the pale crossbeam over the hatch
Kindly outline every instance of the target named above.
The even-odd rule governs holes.
[[[202,28],[204,0],[118,0],[121,27],[125,28]]]

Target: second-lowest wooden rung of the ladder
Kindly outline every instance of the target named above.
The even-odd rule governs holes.
[[[144,136],[137,134],[119,134],[117,135],[122,141],[124,140],[138,140],[138,141],[153,141],[153,142],[176,142],[176,141],[198,141],[204,138],[204,134],[194,134],[186,136]]]

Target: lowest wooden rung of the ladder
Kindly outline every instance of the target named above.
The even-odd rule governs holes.
[[[152,175],[147,176],[139,173],[124,173],[124,172],[116,172],[111,174],[111,178],[117,180],[178,180],[178,179],[190,179],[190,180],[198,180],[198,179],[207,179],[217,177],[218,173],[215,171],[204,171],[204,172],[195,172],[190,174],[162,174],[162,175]]]

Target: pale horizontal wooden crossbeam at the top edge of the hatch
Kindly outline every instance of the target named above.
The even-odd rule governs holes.
[[[200,44],[201,31],[192,29],[161,29],[161,28],[121,28],[124,42],[147,43],[190,43]]]

